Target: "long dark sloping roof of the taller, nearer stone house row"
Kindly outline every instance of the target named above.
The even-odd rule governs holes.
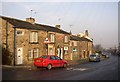
[[[27,21],[15,19],[15,18],[4,17],[4,16],[0,16],[0,18],[8,21],[9,23],[11,23],[16,28],[43,30],[43,31],[51,31],[51,32],[57,32],[57,33],[62,33],[62,34],[69,34],[68,32],[66,32],[64,30],[61,30],[59,28],[53,27],[53,26],[37,24],[37,23],[32,24],[32,23],[29,23]]]

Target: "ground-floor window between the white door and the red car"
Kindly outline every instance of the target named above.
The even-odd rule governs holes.
[[[29,49],[28,50],[28,60],[33,60],[34,58],[37,58],[39,55],[39,49]]]

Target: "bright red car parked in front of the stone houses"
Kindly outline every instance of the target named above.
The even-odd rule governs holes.
[[[34,66],[46,67],[51,69],[52,67],[67,67],[68,62],[55,55],[43,55],[34,59]]]

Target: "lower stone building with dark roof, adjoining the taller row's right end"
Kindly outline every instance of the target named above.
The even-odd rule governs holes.
[[[79,60],[88,58],[93,52],[93,41],[83,36],[70,36],[70,59]]]

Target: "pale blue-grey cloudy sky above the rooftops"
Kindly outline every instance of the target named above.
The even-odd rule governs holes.
[[[94,45],[104,48],[118,44],[118,3],[117,2],[2,2],[2,16],[21,20],[31,16],[37,23],[72,31],[73,34],[88,30]],[[71,28],[70,28],[70,25]]]

